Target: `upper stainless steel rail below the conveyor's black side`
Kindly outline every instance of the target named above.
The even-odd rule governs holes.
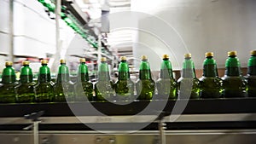
[[[165,117],[163,122],[232,122],[232,121],[256,121],[256,113],[236,114],[185,114]],[[80,124],[80,123],[147,123],[148,119],[155,116],[82,116],[82,117],[41,117],[41,124]],[[157,121],[154,121],[157,122]],[[0,118],[1,124],[31,124],[24,118]]]

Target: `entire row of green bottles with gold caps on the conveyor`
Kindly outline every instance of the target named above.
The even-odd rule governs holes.
[[[15,70],[12,62],[6,62],[0,85],[1,103],[51,102],[51,101],[134,101],[155,99],[198,99],[219,97],[255,96],[256,92],[256,51],[251,52],[248,60],[247,78],[241,75],[240,62],[236,51],[228,53],[225,63],[225,75],[218,77],[218,68],[213,59],[213,53],[206,53],[203,62],[203,76],[195,77],[195,65],[191,54],[184,55],[182,76],[177,81],[173,78],[172,63],[168,55],[163,55],[160,65],[160,78],[154,82],[150,66],[145,55],[139,69],[136,84],[131,81],[126,58],[121,57],[119,63],[119,78],[116,83],[110,78],[106,58],[99,65],[98,81],[90,82],[85,59],[80,59],[77,82],[73,84],[65,60],[61,60],[58,76],[54,84],[50,78],[48,61],[42,60],[39,68],[38,83],[32,82],[32,69],[29,61],[23,61],[20,69],[20,83],[15,80]],[[134,95],[136,89],[137,95]],[[156,92],[157,91],[157,92]],[[95,96],[93,95],[95,92]],[[137,97],[136,97],[137,96]]]

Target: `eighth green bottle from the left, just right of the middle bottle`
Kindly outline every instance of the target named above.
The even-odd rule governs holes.
[[[154,95],[154,80],[151,77],[150,66],[146,55],[142,56],[139,79],[136,82],[137,100],[152,100]]]

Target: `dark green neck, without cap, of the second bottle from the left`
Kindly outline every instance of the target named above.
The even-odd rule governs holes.
[[[20,72],[20,83],[26,84],[26,83],[32,83],[32,81],[33,81],[32,69],[28,65],[23,66]]]

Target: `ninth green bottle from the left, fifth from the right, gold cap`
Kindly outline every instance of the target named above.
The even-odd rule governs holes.
[[[163,55],[160,66],[160,78],[156,82],[158,99],[177,99],[177,82],[173,78],[172,63],[169,55]]]

